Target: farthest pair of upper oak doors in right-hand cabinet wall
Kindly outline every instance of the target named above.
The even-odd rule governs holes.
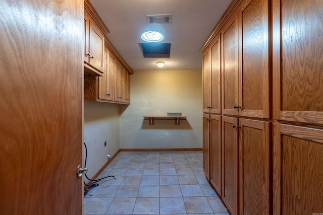
[[[221,113],[221,34],[203,53],[203,112]]]

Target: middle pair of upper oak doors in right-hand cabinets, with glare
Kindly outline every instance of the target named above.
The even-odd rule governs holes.
[[[268,0],[242,1],[221,29],[222,112],[270,118]]]

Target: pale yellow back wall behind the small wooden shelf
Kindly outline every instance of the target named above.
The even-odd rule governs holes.
[[[182,112],[188,116],[155,120],[143,115]],[[130,76],[130,105],[120,109],[121,149],[202,148],[202,71],[145,70]]]

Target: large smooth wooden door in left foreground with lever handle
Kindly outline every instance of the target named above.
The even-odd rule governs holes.
[[[84,3],[0,8],[0,213],[82,214]]]

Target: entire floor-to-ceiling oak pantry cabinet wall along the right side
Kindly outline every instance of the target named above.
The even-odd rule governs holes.
[[[204,171],[231,214],[323,212],[322,14],[320,0],[234,0],[201,48]]]

